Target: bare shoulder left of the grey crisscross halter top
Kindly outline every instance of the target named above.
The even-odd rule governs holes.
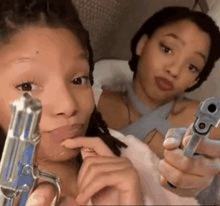
[[[120,129],[128,124],[128,109],[121,92],[104,90],[99,99],[98,110],[110,128]]]

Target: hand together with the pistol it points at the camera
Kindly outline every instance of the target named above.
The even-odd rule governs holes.
[[[159,164],[161,185],[180,196],[201,194],[199,198],[204,201],[208,197],[216,202],[220,140],[213,139],[213,134],[210,137],[210,133],[219,124],[220,99],[211,97],[201,102],[195,116],[192,127],[172,128],[166,134],[164,159]]]

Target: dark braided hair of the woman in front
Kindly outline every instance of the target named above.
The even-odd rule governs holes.
[[[90,82],[93,85],[94,62],[89,34],[79,20],[71,0],[2,0],[0,14],[1,44],[7,44],[12,36],[30,25],[66,28],[73,32],[82,46],[88,50]],[[0,155],[2,155],[6,138],[2,128],[0,128],[0,135]],[[86,135],[99,136],[117,156],[120,156],[120,148],[126,147],[124,143],[110,135],[107,125],[96,108],[91,116]]]

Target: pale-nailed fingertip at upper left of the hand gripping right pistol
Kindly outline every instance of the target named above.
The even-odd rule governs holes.
[[[186,132],[186,128],[171,128],[168,130],[163,146],[165,149],[176,149],[180,147],[183,135]]]

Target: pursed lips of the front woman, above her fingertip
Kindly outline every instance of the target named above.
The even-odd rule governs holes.
[[[55,142],[60,142],[66,139],[73,139],[75,137],[83,136],[83,128],[83,124],[59,127],[49,132],[49,135]]]

